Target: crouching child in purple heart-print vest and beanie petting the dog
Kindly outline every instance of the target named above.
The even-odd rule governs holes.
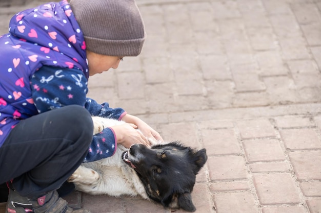
[[[56,191],[82,162],[113,155],[117,144],[148,146],[146,136],[163,140],[124,109],[86,98],[89,76],[139,55],[145,37],[134,0],[64,0],[12,17],[9,33],[0,36],[6,212],[88,212],[71,209]],[[127,124],[92,136],[91,115]]]

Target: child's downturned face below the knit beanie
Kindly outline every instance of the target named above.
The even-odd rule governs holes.
[[[116,69],[122,59],[123,57],[105,56],[87,50],[89,76],[107,72],[110,68]]]

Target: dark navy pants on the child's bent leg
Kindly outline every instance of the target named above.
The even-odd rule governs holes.
[[[0,147],[0,184],[13,179],[28,197],[56,190],[82,163],[92,134],[89,112],[77,105],[22,120]]]

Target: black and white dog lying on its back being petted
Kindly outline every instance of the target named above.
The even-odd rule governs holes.
[[[94,134],[123,123],[102,117],[93,117],[93,121]],[[206,149],[150,141],[151,148],[133,145],[127,149],[119,145],[113,156],[83,163],[68,181],[77,190],[93,195],[139,195],[166,208],[195,211],[191,192],[196,174],[207,160]]]

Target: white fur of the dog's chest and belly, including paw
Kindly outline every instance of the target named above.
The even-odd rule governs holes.
[[[106,127],[124,124],[122,121],[102,117],[93,117],[93,123],[94,134],[101,132]],[[122,145],[117,145],[113,156],[83,163],[68,181],[73,182],[77,190],[93,195],[140,195],[149,199],[136,172],[122,159],[122,154],[126,150],[128,149]]]

